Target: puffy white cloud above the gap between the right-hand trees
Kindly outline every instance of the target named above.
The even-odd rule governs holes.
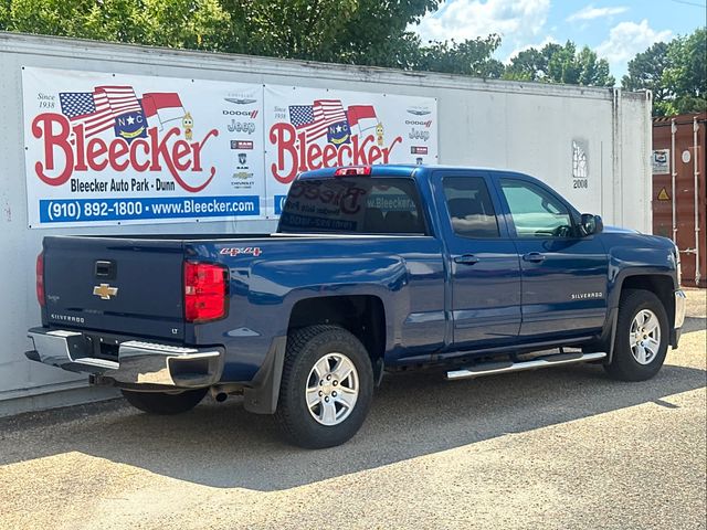
[[[658,41],[668,41],[672,36],[671,30],[653,30],[646,19],[640,23],[621,22],[611,29],[609,39],[597,46],[597,53],[609,61],[612,71],[624,72],[626,62],[636,53],[645,51]]]

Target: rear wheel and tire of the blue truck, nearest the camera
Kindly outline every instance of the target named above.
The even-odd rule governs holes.
[[[275,412],[288,442],[308,449],[347,442],[363,424],[372,399],[371,361],[354,335],[338,326],[289,333]]]

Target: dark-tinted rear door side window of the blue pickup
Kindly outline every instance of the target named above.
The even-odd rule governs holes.
[[[498,221],[486,182],[479,177],[442,180],[454,233],[462,237],[498,237]]]

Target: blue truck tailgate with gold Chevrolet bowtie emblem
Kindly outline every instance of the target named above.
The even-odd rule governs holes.
[[[44,239],[51,326],[183,338],[181,240]]]

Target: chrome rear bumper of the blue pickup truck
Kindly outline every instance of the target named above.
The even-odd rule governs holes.
[[[34,349],[25,356],[64,370],[113,380],[117,385],[202,388],[215,384],[223,372],[223,349],[181,348],[127,340],[118,344],[117,360],[93,357],[83,333],[32,328]]]

